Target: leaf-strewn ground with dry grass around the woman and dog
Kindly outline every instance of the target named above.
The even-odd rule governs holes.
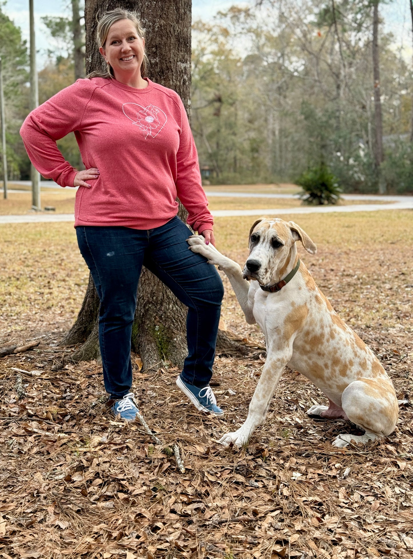
[[[302,257],[342,318],[378,355],[399,399],[409,400],[412,244],[405,232],[397,233],[393,217],[398,216],[398,230],[406,231],[411,215],[385,213],[380,221],[347,216],[334,226],[324,218],[322,230],[320,221],[301,216],[300,224],[319,244],[316,257]],[[240,239],[250,221],[217,223],[220,248],[238,262],[246,257]],[[383,237],[380,231],[392,224],[393,233]],[[56,234],[55,225],[44,235]],[[232,236],[223,233],[229,226]],[[25,243],[25,235],[35,230],[20,228],[19,241],[15,236],[12,245]],[[369,240],[361,242],[357,238],[364,238],[363,228]],[[15,235],[17,229],[12,230]],[[36,253],[42,250],[41,233],[37,248],[27,248],[21,267],[28,265],[30,273],[43,278],[32,288],[25,276],[29,272],[13,264],[12,245],[7,245],[2,280],[9,287],[0,345],[34,338],[40,344],[0,359],[0,557],[411,557],[410,404],[401,406],[390,437],[367,447],[336,449],[331,446],[336,434],[356,431],[341,421],[308,418],[309,406],[325,398],[302,375],[286,370],[266,423],[249,446],[236,451],[216,442],[246,418],[265,361],[260,330],[243,320],[226,278],[221,326],[256,349],[250,357],[216,359],[212,384],[226,411],[224,421],[187,404],[175,385],[178,369],[142,372],[134,356],[133,389],[140,411],[161,440],[179,444],[184,475],[175,457],[154,445],[139,423],[124,425],[106,411],[98,363],[53,371],[70,351],[58,345],[72,321],[64,302],[75,312],[87,280],[69,231],[63,231],[66,244],[72,243],[63,266],[55,257]],[[345,235],[353,245],[343,240]],[[63,241],[55,237],[53,242],[57,254]],[[15,262],[19,258],[16,254]],[[13,283],[18,273],[26,298],[19,282]],[[36,301],[37,308],[32,314],[30,293],[45,291],[50,278],[60,299],[53,302],[48,292],[37,299],[33,295],[31,304]],[[82,286],[75,293],[74,280]]]

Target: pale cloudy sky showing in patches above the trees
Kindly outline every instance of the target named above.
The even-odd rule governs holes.
[[[254,2],[254,0],[244,0],[240,2],[228,0],[193,0],[193,20],[199,18],[211,20],[219,10],[226,10],[233,4],[246,6],[252,2]],[[70,13],[68,10],[69,3],[70,0],[34,0],[38,69],[44,66],[48,49],[53,48],[53,43],[50,41],[48,31],[40,18],[46,15],[67,15]],[[24,39],[27,39],[27,42],[29,42],[29,0],[7,0],[2,10],[21,28]],[[413,48],[409,2],[407,2],[407,0],[391,0],[388,4],[382,4],[380,10],[381,16],[384,19],[385,30],[393,32],[398,48],[401,48],[403,55],[411,60]]]

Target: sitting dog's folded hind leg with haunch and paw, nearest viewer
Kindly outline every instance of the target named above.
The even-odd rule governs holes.
[[[346,447],[352,439],[367,443],[395,430],[398,404],[395,389],[386,378],[351,382],[342,393],[341,404],[349,421],[364,429],[365,434],[339,435],[332,443],[336,447]]]

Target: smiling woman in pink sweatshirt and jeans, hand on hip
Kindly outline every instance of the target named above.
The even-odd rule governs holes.
[[[101,302],[99,343],[115,416],[134,420],[130,338],[142,265],[188,307],[188,356],[177,385],[199,410],[223,415],[209,387],[223,286],[213,266],[188,250],[187,222],[214,244],[213,218],[178,94],[146,75],[137,16],[117,8],[97,27],[107,73],[78,79],[30,113],[20,134],[36,169],[76,187],[79,249]],[[74,131],[86,170],[66,162],[56,140]]]

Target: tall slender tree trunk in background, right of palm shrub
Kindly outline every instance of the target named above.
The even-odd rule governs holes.
[[[386,193],[386,184],[383,181],[381,173],[381,164],[383,163],[383,119],[382,119],[382,102],[380,92],[380,68],[379,68],[379,47],[378,47],[378,4],[379,0],[374,0],[373,4],[373,78],[374,78],[374,165],[376,167],[379,193]]]

